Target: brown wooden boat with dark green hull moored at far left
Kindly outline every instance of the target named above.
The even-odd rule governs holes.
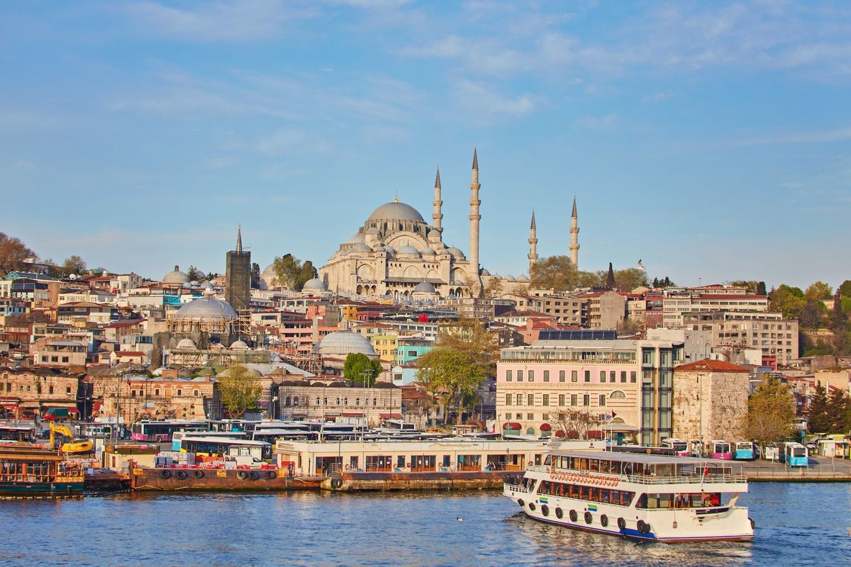
[[[0,445],[0,497],[83,494],[83,471],[58,451],[27,443]]]

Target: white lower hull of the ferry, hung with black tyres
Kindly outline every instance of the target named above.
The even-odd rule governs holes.
[[[554,496],[547,497],[542,502],[540,495],[511,490],[508,486],[505,487],[503,494],[520,505],[528,518],[571,530],[620,536],[645,543],[753,540],[753,528],[751,520],[747,517],[746,508],[731,507],[723,513],[723,516],[719,514],[717,517],[711,514],[701,517],[693,510],[670,510],[657,512],[651,516],[635,508],[612,509],[601,506],[591,511],[585,506],[585,502],[569,501]],[[558,510],[562,512],[561,519],[557,518]],[[575,521],[569,517],[570,510],[576,512]],[[591,514],[590,523],[585,521],[586,513]],[[603,526],[603,516],[608,519],[606,526]],[[619,526],[620,519],[623,520],[622,528]],[[644,533],[638,529],[639,521],[648,526],[648,530]]]

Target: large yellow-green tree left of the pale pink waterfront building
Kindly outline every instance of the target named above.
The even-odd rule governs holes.
[[[453,408],[457,422],[461,422],[465,404],[475,400],[476,389],[485,379],[482,367],[461,350],[439,346],[417,360],[417,380],[441,400],[446,408],[444,423]]]

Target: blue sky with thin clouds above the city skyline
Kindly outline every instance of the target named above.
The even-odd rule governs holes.
[[[158,278],[322,265],[380,204],[520,275],[542,256],[682,284],[837,286],[848,3],[4,2],[0,231]]]

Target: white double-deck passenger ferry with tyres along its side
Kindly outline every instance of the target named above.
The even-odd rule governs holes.
[[[530,518],[665,543],[751,541],[742,492],[747,479],[729,461],[559,450],[503,488]]]

